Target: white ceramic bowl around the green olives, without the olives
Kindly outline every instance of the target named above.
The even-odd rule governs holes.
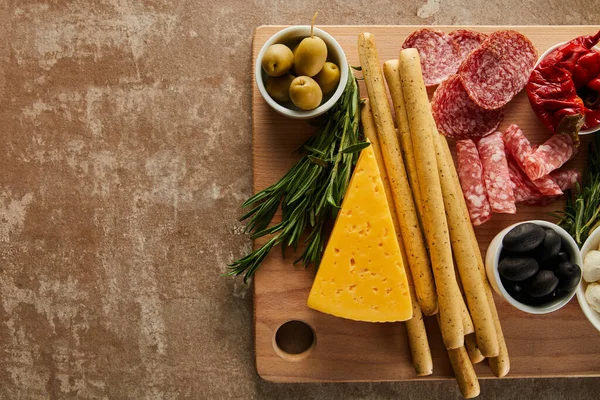
[[[323,41],[327,45],[327,61],[335,63],[340,68],[340,83],[338,83],[338,87],[333,92],[333,94],[325,95],[323,97],[325,101],[322,102],[319,107],[313,110],[303,111],[291,103],[281,105],[275,100],[273,100],[271,96],[269,96],[269,94],[267,93],[267,89],[265,88],[267,74],[263,71],[261,66],[262,58],[270,45],[276,43],[293,43],[294,41],[298,41],[302,38],[310,36],[309,25],[291,26],[289,28],[285,28],[277,32],[265,42],[263,47],[258,52],[258,56],[256,57],[256,64],[254,65],[254,79],[256,81],[256,85],[258,86],[258,90],[260,91],[260,94],[265,99],[265,101],[275,111],[285,115],[286,117],[295,119],[310,119],[318,117],[319,115],[325,113],[327,110],[333,107],[333,105],[340,99],[342,93],[344,92],[344,88],[346,87],[346,83],[348,82],[348,62],[346,61],[346,54],[344,53],[342,46],[340,46],[340,44],[333,38],[333,36],[331,36],[322,29],[314,28],[314,35],[323,39]]]

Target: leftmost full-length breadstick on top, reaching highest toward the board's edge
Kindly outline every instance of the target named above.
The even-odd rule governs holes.
[[[417,300],[425,315],[433,315],[437,312],[438,300],[433,282],[427,279],[431,274],[429,257],[419,228],[372,34],[358,36],[358,54]]]

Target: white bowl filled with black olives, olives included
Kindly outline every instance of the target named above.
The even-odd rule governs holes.
[[[494,290],[531,314],[547,314],[567,304],[581,281],[581,265],[579,248],[567,231],[541,220],[502,230],[485,257]]]

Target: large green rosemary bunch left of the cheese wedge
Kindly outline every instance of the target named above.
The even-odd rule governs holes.
[[[325,222],[335,218],[350,182],[358,152],[368,146],[361,142],[359,90],[349,68],[348,82],[340,100],[320,119],[317,132],[302,147],[303,157],[277,183],[261,190],[243,204],[250,210],[246,232],[252,239],[273,235],[247,256],[229,264],[227,275],[252,277],[268,253],[281,245],[294,250],[305,231],[306,249],[294,262],[318,265],[324,248]],[[281,222],[269,226],[281,206]]]

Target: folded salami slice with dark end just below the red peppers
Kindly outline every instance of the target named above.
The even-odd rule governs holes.
[[[536,180],[569,161],[576,154],[573,139],[568,135],[553,135],[527,156],[523,170],[529,179]]]

